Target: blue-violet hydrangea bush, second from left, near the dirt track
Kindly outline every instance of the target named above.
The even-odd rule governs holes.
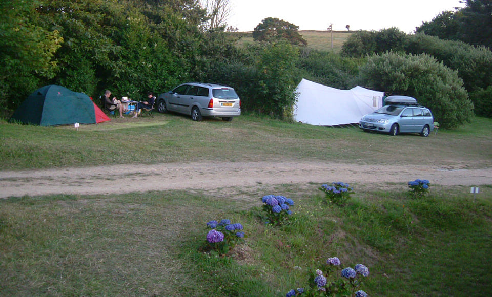
[[[263,202],[263,211],[266,213],[265,222],[279,226],[288,221],[288,216],[292,215],[290,207],[294,201],[284,196],[267,195],[261,198]]]

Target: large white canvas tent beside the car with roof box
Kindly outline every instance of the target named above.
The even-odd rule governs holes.
[[[383,105],[384,92],[362,87],[339,90],[302,79],[296,92],[294,119],[315,126],[336,126],[358,123],[363,115]]]

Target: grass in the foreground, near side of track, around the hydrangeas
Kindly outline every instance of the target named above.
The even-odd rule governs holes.
[[[282,227],[259,220],[257,193],[242,200],[186,191],[2,200],[0,294],[283,296],[334,256],[370,268],[363,289],[373,296],[492,289],[489,197],[473,201],[455,187],[415,200],[404,189],[356,188],[338,207],[317,185],[293,194],[298,186],[278,188],[296,203]],[[223,218],[244,226],[246,243],[228,258],[200,252],[206,222]]]

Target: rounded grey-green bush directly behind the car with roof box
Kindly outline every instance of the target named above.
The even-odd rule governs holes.
[[[360,79],[362,85],[385,90],[387,95],[415,97],[443,128],[456,128],[473,116],[473,103],[458,72],[427,54],[372,56],[361,67]]]

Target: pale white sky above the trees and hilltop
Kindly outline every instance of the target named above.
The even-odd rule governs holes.
[[[375,30],[397,27],[413,33],[442,11],[463,7],[459,0],[229,0],[228,26],[253,31],[267,17],[276,17],[299,30]]]

